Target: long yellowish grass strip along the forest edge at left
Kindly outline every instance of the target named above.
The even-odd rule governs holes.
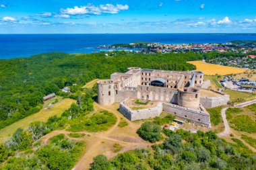
[[[61,114],[70,108],[71,104],[74,103],[75,100],[73,99],[63,99],[62,101],[59,101],[59,103],[56,103],[50,108],[43,108],[36,114],[32,114],[22,120],[19,120],[18,122],[15,122],[9,126],[6,126],[5,128],[2,128],[0,130],[0,143],[5,141],[7,137],[15,132],[18,128],[27,128],[28,125],[35,121],[46,121],[51,116],[61,116]]]

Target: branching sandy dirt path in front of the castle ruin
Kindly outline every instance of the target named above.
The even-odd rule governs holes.
[[[152,144],[150,142],[142,140],[136,133],[137,128],[140,127],[140,123],[131,122],[124,118],[124,116],[117,111],[118,108],[119,104],[117,103],[110,106],[102,106],[98,103],[94,103],[94,110],[106,110],[113,113],[117,117],[117,122],[115,125],[104,132],[75,132],[78,134],[86,135],[81,138],[71,138],[68,136],[68,134],[72,132],[67,130],[55,130],[42,137],[42,144],[46,144],[50,138],[58,134],[65,134],[67,138],[71,138],[72,140],[83,140],[86,142],[86,150],[84,151],[82,157],[80,157],[79,161],[76,163],[75,167],[73,167],[73,170],[90,169],[90,163],[92,163],[93,158],[99,154],[104,154],[106,157],[108,157],[108,159],[111,159],[119,153],[124,153],[135,148],[146,148],[151,146]],[[121,119],[127,121],[128,126],[119,128],[118,125],[119,122],[121,122]],[[115,143],[118,143],[122,146],[121,151],[114,151],[113,144]]]

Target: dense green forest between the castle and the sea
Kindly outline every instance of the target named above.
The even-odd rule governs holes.
[[[196,69],[188,60],[246,54],[135,54],[112,52],[97,54],[46,53],[29,58],[0,61],[0,129],[42,108],[42,97],[50,93],[63,95],[69,86],[75,91],[92,79],[108,79],[111,73],[125,72],[127,67],[188,71]],[[77,85],[76,87],[73,85]]]

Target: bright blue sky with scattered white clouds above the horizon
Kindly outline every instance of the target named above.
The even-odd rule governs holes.
[[[0,34],[256,33],[255,0],[0,0]]]

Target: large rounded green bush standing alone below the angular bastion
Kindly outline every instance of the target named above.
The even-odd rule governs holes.
[[[156,142],[160,140],[160,132],[160,126],[152,122],[144,122],[137,130],[137,134],[139,134],[141,138],[150,142]]]

